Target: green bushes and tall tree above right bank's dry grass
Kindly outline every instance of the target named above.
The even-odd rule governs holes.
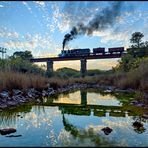
[[[135,32],[130,39],[134,45],[127,49],[127,54],[123,55],[119,64],[114,68],[115,71],[128,72],[138,68],[140,62],[148,56],[148,41],[142,42],[143,33]]]

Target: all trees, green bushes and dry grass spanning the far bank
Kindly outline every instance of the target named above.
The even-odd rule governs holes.
[[[48,74],[29,62],[33,57],[30,51],[15,52],[8,59],[0,59],[0,90],[42,89],[49,84],[57,89],[74,83],[89,83],[133,88],[140,92],[136,97],[143,98],[141,92],[148,93],[148,41],[142,42],[143,37],[140,32],[132,34],[131,47],[112,70],[88,70],[85,78],[81,78],[80,71],[66,67]]]

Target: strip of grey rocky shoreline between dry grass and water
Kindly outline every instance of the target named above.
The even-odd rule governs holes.
[[[34,88],[27,89],[25,91],[13,89],[11,92],[5,90],[0,93],[0,110],[11,109],[20,105],[23,105],[28,102],[40,103],[41,99],[55,94],[60,94],[63,92],[73,91],[83,88],[96,88],[102,89],[106,93],[134,93],[133,89],[119,89],[114,86],[103,86],[99,84],[79,84],[75,83],[73,85],[68,85],[64,88],[57,88],[56,90],[48,87],[44,90],[37,91]],[[147,94],[145,94],[148,97]],[[131,102],[133,105],[148,107],[146,104],[143,104],[140,101]]]

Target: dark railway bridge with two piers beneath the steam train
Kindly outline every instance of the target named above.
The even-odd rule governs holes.
[[[87,73],[87,60],[92,59],[111,59],[111,58],[121,58],[121,56],[125,53],[105,53],[105,54],[98,54],[98,55],[89,55],[89,56],[73,56],[73,57],[46,57],[46,58],[32,58],[30,59],[31,62],[46,62],[47,63],[47,71],[53,72],[53,63],[55,61],[71,61],[71,60],[80,60],[81,64],[81,76],[84,77]]]

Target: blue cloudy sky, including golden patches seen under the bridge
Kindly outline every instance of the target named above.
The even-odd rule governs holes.
[[[29,50],[34,57],[57,56],[65,34],[79,23],[88,24],[114,1],[0,1],[0,47],[6,57]],[[114,10],[116,11],[116,10]],[[110,19],[110,17],[108,17]],[[65,49],[129,47],[131,34],[142,32],[148,40],[148,2],[122,1],[113,23],[91,35],[79,35]],[[0,55],[1,57],[1,55]],[[89,60],[88,69],[108,70],[119,59]],[[55,62],[54,69],[80,69],[80,61]]]

